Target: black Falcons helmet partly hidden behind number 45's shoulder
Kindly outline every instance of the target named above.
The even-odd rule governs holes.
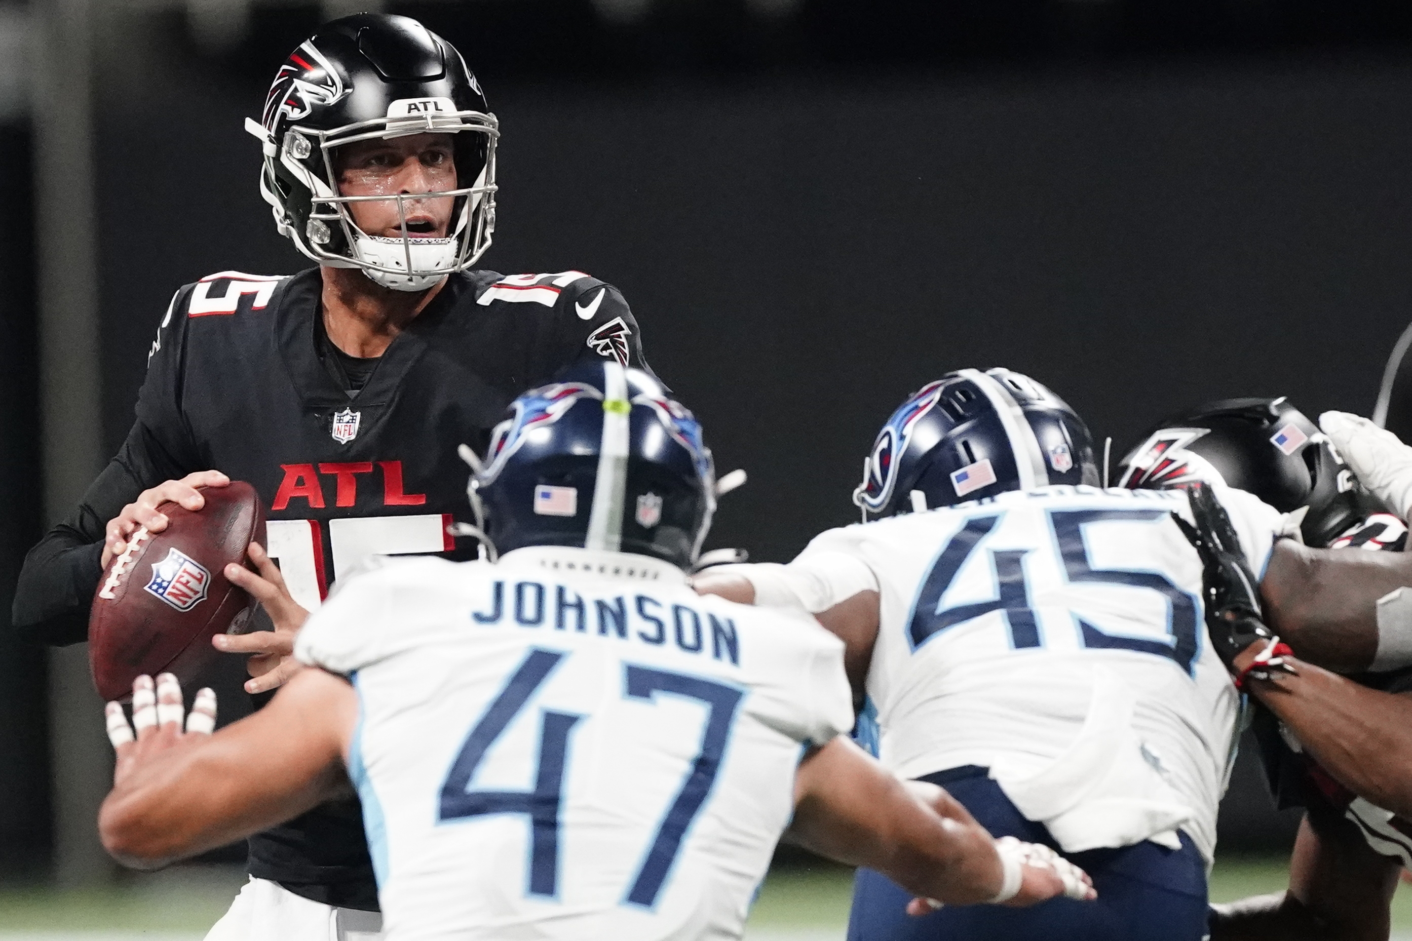
[[[1285,398],[1207,402],[1159,422],[1118,466],[1130,490],[1190,481],[1244,490],[1282,514],[1305,508],[1299,530],[1329,546],[1387,508],[1363,490],[1319,426]]]

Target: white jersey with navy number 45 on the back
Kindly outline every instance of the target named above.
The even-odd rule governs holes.
[[[1281,515],[1216,495],[1262,574]],[[867,691],[894,772],[988,767],[1065,849],[1180,828],[1210,861],[1238,697],[1171,511],[1185,492],[1017,491],[826,532],[786,570],[881,593]]]

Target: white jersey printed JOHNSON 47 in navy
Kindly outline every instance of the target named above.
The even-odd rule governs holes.
[[[843,645],[642,556],[390,561],[309,618],[346,674],[388,941],[738,938]]]

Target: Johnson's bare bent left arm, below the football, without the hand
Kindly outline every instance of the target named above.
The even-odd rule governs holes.
[[[126,775],[103,801],[103,845],[155,869],[297,817],[349,787],[357,693],[304,670],[253,715],[191,738]]]

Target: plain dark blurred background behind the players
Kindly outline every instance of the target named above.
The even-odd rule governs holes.
[[[658,0],[393,3],[457,42],[501,121],[505,274],[620,286],[722,471],[710,546],[788,560],[850,522],[861,459],[960,367],[1049,384],[1114,439],[1289,395],[1368,413],[1412,317],[1412,20],[1395,4]],[[172,292],[308,262],[241,130],[313,7],[199,40],[103,37],[96,158],[103,436],[116,450]],[[0,133],[0,602],[40,535],[27,131]],[[38,212],[44,207],[40,206]],[[240,389],[230,389],[239,395]],[[449,444],[453,444],[449,443]],[[47,858],[42,653],[0,635],[0,866]],[[97,717],[95,717],[97,721]],[[1243,762],[1221,838],[1288,845]]]

